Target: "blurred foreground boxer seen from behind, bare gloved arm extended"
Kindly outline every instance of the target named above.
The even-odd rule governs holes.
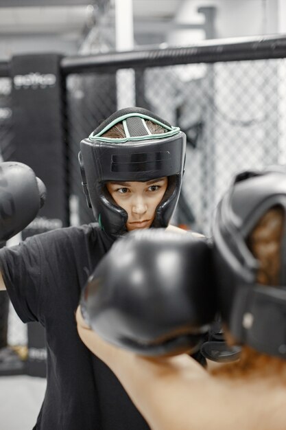
[[[137,261],[143,256],[142,249],[145,246],[152,253],[150,260],[156,261],[166,256],[166,249],[171,249],[175,261],[172,265],[171,260],[168,260],[171,270],[175,271],[179,266],[184,271],[180,284],[176,286],[176,294],[180,304],[189,300],[190,333],[195,321],[198,324],[198,315],[204,317],[209,306],[207,297],[203,301],[200,295],[205,293],[210,297],[213,313],[215,310],[222,313],[228,342],[242,345],[241,359],[209,372],[186,354],[176,357],[154,357],[153,354],[152,357],[152,348],[143,348],[142,340],[146,345],[143,328],[150,324],[152,318],[152,340],[158,341],[156,332],[160,321],[155,311],[154,314],[150,313],[150,304],[160,294],[156,310],[160,313],[162,306],[169,306],[168,297],[173,293],[174,281],[167,282],[164,287],[166,276],[163,269],[160,270],[156,265],[151,267],[156,282],[150,287],[145,303],[142,303],[141,295],[143,281],[139,281],[138,277],[136,282],[131,279],[134,273],[131,264],[129,270],[128,264],[124,264],[122,269],[126,272],[126,293],[119,291],[116,280],[112,280],[112,273],[105,273],[106,261],[95,270],[88,282],[84,303],[86,316],[94,331],[78,310],[80,337],[115,372],[153,430],[285,429],[285,210],[285,171],[246,173],[237,177],[219,204],[213,227],[212,255],[216,280],[213,288],[217,291],[216,300],[211,297],[207,285],[201,286],[201,293],[196,291],[195,267],[198,267],[198,271],[202,271],[202,267],[209,271],[211,264],[205,260],[205,253],[202,254],[202,260],[198,261],[198,256],[193,254],[191,241],[186,236],[182,239],[176,235],[175,239],[154,231],[134,234],[132,240],[124,240],[124,249],[132,249]],[[117,247],[104,260],[116,261],[120,258],[119,250],[117,242]],[[188,259],[191,262],[193,258],[197,258],[197,262],[190,271],[184,262]],[[147,270],[147,264],[141,263],[139,268],[143,273],[143,269]],[[156,288],[158,282],[161,282],[160,289]],[[136,295],[140,297],[138,302],[136,295],[132,295],[132,287],[136,288]],[[103,290],[109,304],[106,304],[106,300],[102,302]],[[112,300],[110,295],[115,299]],[[123,298],[129,306],[131,303],[139,309],[142,319],[147,315],[143,321],[137,321],[133,316],[129,332],[126,329],[129,321],[126,314],[129,310],[121,306]],[[112,316],[112,308],[118,315],[116,330],[104,326],[107,314]],[[176,306],[173,310],[180,313]],[[165,332],[170,332],[172,315],[168,318],[163,313],[161,319],[163,317]],[[185,319],[183,322],[186,326],[188,321]],[[178,326],[174,325],[173,328],[178,337],[182,335],[182,332],[178,333]],[[134,343],[134,339],[138,341]],[[161,355],[164,348],[166,351],[168,348],[168,343],[164,341],[161,343]],[[149,345],[154,343],[150,341]],[[185,346],[187,349],[187,343]],[[158,348],[155,352],[158,355]],[[175,349],[174,353],[177,352]],[[148,353],[150,357],[146,357]]]

